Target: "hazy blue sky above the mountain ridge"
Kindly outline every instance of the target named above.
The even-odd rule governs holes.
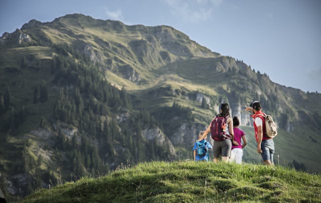
[[[279,84],[321,92],[321,0],[1,0],[0,34],[67,13],[170,25]]]

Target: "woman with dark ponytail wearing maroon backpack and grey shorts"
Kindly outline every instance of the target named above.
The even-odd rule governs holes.
[[[229,104],[222,103],[221,113],[216,115],[211,124],[205,130],[203,136],[199,139],[202,140],[209,132],[211,132],[211,137],[214,139],[214,162],[217,162],[220,157],[222,157],[223,161],[228,162],[231,156],[232,142],[233,144],[238,145],[238,143],[234,141],[233,119],[230,117],[229,111]]]

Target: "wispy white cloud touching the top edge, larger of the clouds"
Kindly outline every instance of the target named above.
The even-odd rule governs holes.
[[[183,20],[197,23],[211,18],[213,8],[219,6],[223,0],[166,0],[174,15]]]

